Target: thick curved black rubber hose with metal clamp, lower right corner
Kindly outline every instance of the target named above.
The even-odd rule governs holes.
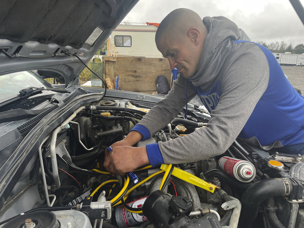
[[[261,180],[247,188],[243,194],[241,201],[241,223],[252,223],[257,217],[257,212],[261,202],[263,202],[265,199],[268,199],[269,197],[285,196],[285,188],[286,186],[281,178]]]

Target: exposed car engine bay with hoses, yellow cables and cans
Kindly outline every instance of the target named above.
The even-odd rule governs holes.
[[[152,106],[104,99],[74,109],[36,148],[0,210],[0,227],[304,226],[301,155],[237,139],[224,154],[206,160],[141,167],[133,179],[110,175],[103,167],[105,150]],[[188,113],[135,146],[207,127],[205,111],[195,106]]]

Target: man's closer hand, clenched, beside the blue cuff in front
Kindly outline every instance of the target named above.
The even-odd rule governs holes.
[[[103,165],[110,174],[124,175],[147,164],[149,159],[146,147],[115,146],[110,153],[105,150]]]

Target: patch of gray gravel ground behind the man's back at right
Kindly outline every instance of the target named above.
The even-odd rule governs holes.
[[[304,94],[304,67],[300,66],[282,66],[284,74],[287,75],[287,78],[291,85],[295,88],[301,90]]]

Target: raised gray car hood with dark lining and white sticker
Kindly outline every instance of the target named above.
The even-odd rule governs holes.
[[[0,75],[49,70],[73,85],[138,0],[10,1],[0,3]]]

